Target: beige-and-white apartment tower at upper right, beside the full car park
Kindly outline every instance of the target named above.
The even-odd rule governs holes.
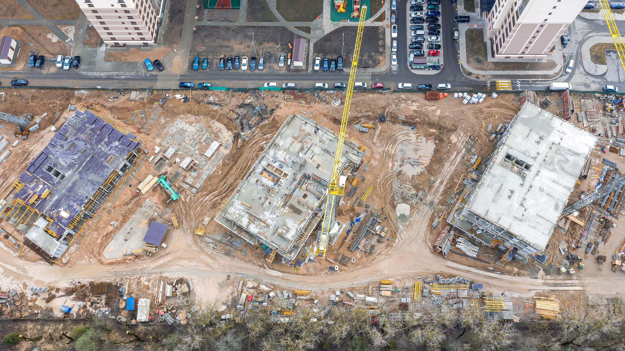
[[[486,17],[495,59],[542,59],[587,0],[496,0]]]

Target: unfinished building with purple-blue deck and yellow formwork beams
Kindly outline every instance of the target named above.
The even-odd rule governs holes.
[[[133,167],[141,142],[89,111],[76,111],[14,182],[0,219],[51,263]],[[9,194],[9,195],[10,195]]]

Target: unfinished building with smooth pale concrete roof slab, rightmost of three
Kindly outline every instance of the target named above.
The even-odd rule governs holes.
[[[597,138],[529,103],[499,137],[448,220],[504,253],[501,262],[527,262],[546,247]]]

